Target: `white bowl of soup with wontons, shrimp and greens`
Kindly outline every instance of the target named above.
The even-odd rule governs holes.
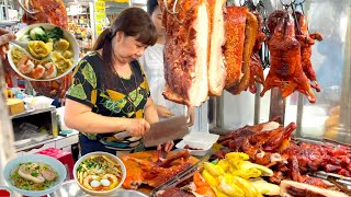
[[[27,44],[30,58],[23,49],[10,45],[8,59],[12,69],[30,81],[52,81],[72,71],[79,60],[79,45],[75,36],[59,26],[37,23],[21,28],[16,39]],[[50,58],[46,60],[47,56]]]

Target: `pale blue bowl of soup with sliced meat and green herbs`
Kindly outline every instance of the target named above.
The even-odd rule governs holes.
[[[66,167],[60,161],[43,154],[18,157],[3,169],[9,187],[25,196],[45,196],[55,192],[66,175]]]

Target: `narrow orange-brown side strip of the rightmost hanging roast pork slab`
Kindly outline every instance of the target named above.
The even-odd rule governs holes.
[[[240,81],[235,83],[234,86],[227,89],[231,94],[239,94],[241,91],[247,90],[250,82],[250,59],[256,43],[256,34],[258,30],[258,21],[253,13],[248,12],[245,26],[245,42],[242,53],[242,66]]]

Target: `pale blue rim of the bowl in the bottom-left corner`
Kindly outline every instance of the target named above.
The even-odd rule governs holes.
[[[10,176],[12,172],[20,165],[20,163],[25,163],[25,162],[38,162],[38,163],[48,164],[50,167],[53,167],[53,170],[57,172],[59,177],[56,179],[56,182],[52,187],[45,190],[24,190],[24,189],[18,188],[14,185],[12,185],[12,181]],[[43,154],[26,154],[26,155],[18,157],[11,160],[10,162],[8,162],[3,169],[3,177],[7,181],[9,187],[12,190],[25,196],[45,196],[50,193],[54,193],[56,189],[58,189],[61,186],[61,184],[66,179],[66,175],[67,175],[67,170],[60,161],[56,160],[55,158],[43,155]]]

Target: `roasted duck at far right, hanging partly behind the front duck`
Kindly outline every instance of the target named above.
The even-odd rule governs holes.
[[[301,43],[301,58],[302,66],[306,77],[310,80],[310,86],[316,89],[317,92],[320,91],[320,86],[317,82],[316,71],[314,70],[310,56],[312,56],[312,46],[315,44],[315,40],[322,40],[320,33],[316,32],[308,34],[307,21],[303,13],[295,11],[295,15],[298,22],[298,28],[295,28],[296,38]],[[299,30],[299,32],[298,32]]]

